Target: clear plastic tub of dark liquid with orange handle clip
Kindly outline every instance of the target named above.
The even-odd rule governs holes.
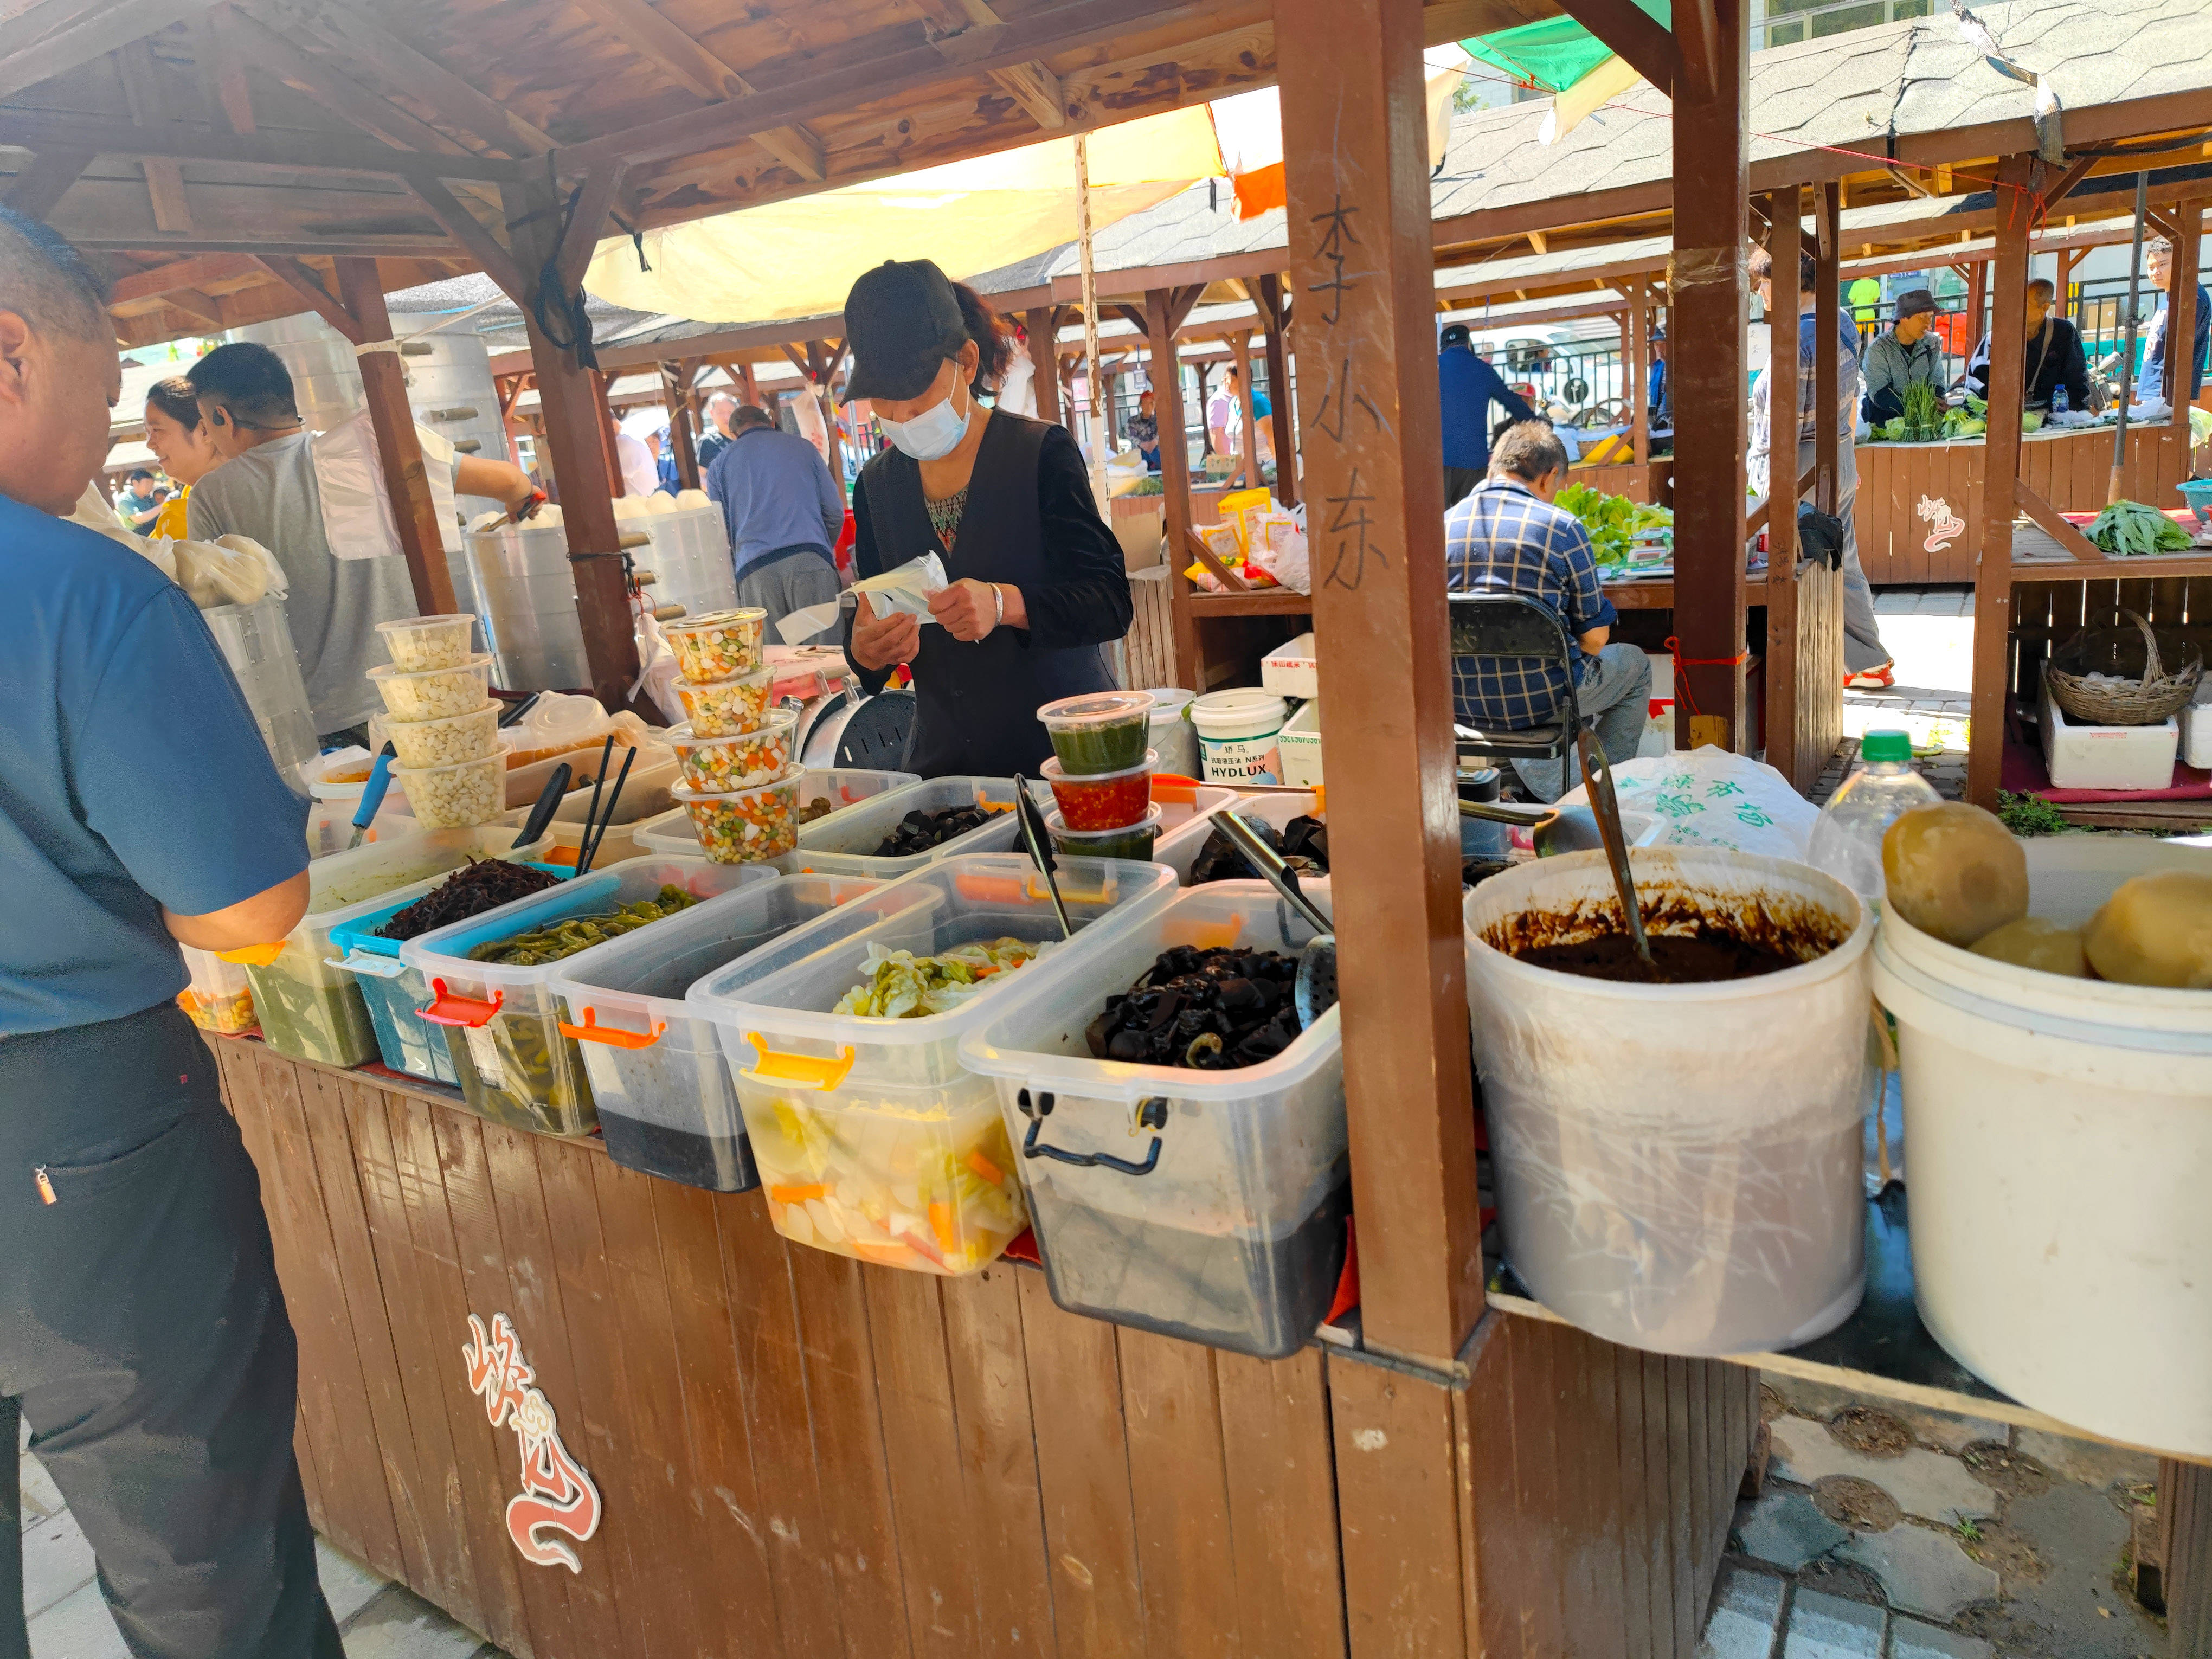
[[[748,883],[553,975],[562,1031],[584,1055],[611,1159],[714,1192],[759,1186],[714,1022],[684,993],[874,889],[858,876]]]

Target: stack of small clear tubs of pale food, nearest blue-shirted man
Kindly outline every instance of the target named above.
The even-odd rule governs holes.
[[[491,655],[471,650],[476,617],[378,622],[392,661],[369,670],[385,699],[392,774],[416,823],[465,830],[507,812],[500,706],[491,701]]]

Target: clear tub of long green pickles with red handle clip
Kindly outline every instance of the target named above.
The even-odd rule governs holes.
[[[630,858],[405,940],[400,962],[429,982],[420,1013],[447,1026],[469,1108],[538,1135],[591,1135],[591,1079],[575,1037],[562,1031],[553,975],[580,971],[591,951],[757,880],[776,880],[776,872]]]

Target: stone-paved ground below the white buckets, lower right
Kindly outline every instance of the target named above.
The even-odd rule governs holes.
[[[1699,1659],[2163,1659],[2126,1593],[2150,1458],[1765,1376]]]

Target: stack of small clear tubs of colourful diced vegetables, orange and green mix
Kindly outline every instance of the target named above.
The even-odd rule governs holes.
[[[670,794],[719,865],[765,863],[799,843],[799,717],[770,710],[765,630],[768,613],[759,608],[714,611],[664,630],[690,717],[670,732],[686,774]]]

